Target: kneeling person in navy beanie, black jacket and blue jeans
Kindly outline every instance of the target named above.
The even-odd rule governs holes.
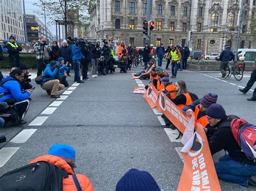
[[[226,116],[225,109],[217,103],[210,105],[206,115],[211,127],[217,129],[209,142],[212,155],[221,150],[228,152],[215,163],[219,179],[241,186],[256,186],[256,161],[247,158],[235,140],[230,126],[232,117]],[[198,128],[203,128],[203,125],[198,125]]]

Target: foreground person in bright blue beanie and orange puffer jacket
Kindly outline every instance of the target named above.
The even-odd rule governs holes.
[[[79,190],[76,186],[75,179],[82,190],[93,191],[93,186],[89,178],[83,174],[76,174],[73,169],[76,168],[76,151],[73,147],[65,144],[52,145],[48,154],[31,160],[29,163],[46,161],[56,165],[66,171],[68,178],[63,179],[63,191]]]

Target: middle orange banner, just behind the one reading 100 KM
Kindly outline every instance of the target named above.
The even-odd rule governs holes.
[[[175,125],[181,133],[184,133],[190,117],[176,106],[163,91],[160,91],[157,101],[157,110],[163,114]]]

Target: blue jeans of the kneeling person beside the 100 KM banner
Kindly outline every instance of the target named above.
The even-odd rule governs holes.
[[[248,177],[256,175],[256,165],[242,164],[228,154],[220,157],[219,162],[214,165],[219,179],[241,186],[248,186]]]

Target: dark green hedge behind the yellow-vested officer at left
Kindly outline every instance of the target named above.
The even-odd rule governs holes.
[[[9,54],[3,53],[4,60],[0,61],[0,68],[1,69],[9,69],[10,68],[10,61],[9,61]],[[37,68],[37,61],[36,61],[36,54],[33,53],[20,53],[21,56],[21,64],[25,63],[26,66],[30,69]]]

